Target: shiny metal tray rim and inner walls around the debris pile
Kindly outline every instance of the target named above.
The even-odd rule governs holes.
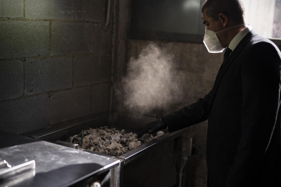
[[[30,135],[33,138],[39,138],[42,140],[47,140],[51,142],[59,141],[59,144],[62,143],[62,141],[66,141],[70,136],[73,136],[74,134],[78,134],[82,130],[86,130],[89,128],[95,128],[95,127],[104,127],[108,126],[108,128],[116,128],[116,129],[125,129],[125,131],[138,133],[141,129],[145,127],[146,124],[149,122],[155,120],[154,118],[145,118],[145,119],[133,119],[129,117],[119,117],[114,122],[109,122],[108,119],[109,115],[105,115],[102,117],[97,118],[91,118],[91,119],[84,119],[84,120],[78,120],[70,124],[61,125],[58,127],[50,128],[44,131],[37,132],[36,134]],[[150,142],[147,142],[119,157],[119,160],[121,162],[124,162],[124,164],[128,164],[129,162],[137,159],[138,157],[141,157],[143,154],[147,153],[148,151],[152,150],[156,146],[160,146],[163,143],[173,140],[174,138],[177,138],[183,134],[188,133],[188,128],[181,129],[179,131],[175,131],[172,133],[169,133],[167,130],[164,130],[165,134],[153,139]],[[68,146],[68,145],[64,145]],[[69,145],[68,147],[75,147]],[[92,151],[87,151],[92,152]],[[113,157],[109,155],[105,155],[102,153],[92,152],[98,155],[104,155],[108,157]]]

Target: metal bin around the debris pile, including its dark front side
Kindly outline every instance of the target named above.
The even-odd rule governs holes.
[[[78,148],[66,140],[82,130],[104,127],[124,129],[126,133],[140,132],[149,122],[156,120],[156,115],[142,118],[103,115],[83,120],[76,120],[58,127],[46,129],[30,135],[33,138],[51,141],[74,149],[80,149],[96,155],[102,155],[121,162],[120,186],[178,186],[181,165],[183,165],[182,135],[189,133],[188,128],[165,134],[149,141],[129,152],[118,156],[109,156]]]

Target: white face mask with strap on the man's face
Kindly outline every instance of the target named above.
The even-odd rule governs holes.
[[[247,24],[242,24],[242,25],[247,25]],[[242,25],[237,25],[234,27],[239,27]],[[230,27],[228,29],[234,28],[234,27]],[[225,29],[225,30],[228,30]],[[225,31],[225,30],[221,30],[219,32]],[[222,48],[222,45],[220,44],[220,40],[217,37],[218,32],[213,32],[211,30],[207,30],[205,31],[205,36],[204,36],[204,44],[206,46],[206,48],[208,49],[209,53],[221,53],[225,48]]]

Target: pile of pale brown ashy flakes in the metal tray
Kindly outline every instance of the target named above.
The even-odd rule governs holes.
[[[115,128],[99,127],[82,130],[79,134],[71,136],[67,142],[77,143],[83,149],[118,157],[163,134],[164,132],[158,131],[155,137],[143,134],[137,138],[135,133],[125,134],[124,129],[119,131]]]

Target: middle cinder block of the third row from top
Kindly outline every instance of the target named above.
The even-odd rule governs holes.
[[[25,62],[25,94],[70,88],[72,57],[32,59]]]

